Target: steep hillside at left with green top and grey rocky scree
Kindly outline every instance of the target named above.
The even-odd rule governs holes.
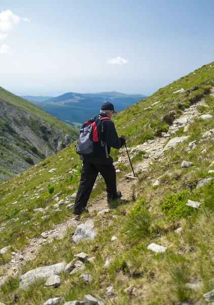
[[[78,136],[78,130],[0,87],[0,180],[49,157]]]

